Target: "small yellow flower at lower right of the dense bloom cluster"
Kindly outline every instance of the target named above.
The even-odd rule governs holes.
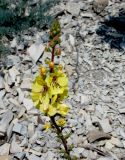
[[[69,107],[65,104],[58,104],[57,105],[57,113],[61,116],[66,116],[69,112]]]

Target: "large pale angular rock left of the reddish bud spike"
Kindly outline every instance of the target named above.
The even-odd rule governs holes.
[[[37,62],[40,56],[42,55],[44,49],[45,47],[43,44],[35,43],[28,48],[27,53],[34,60],[34,62]]]

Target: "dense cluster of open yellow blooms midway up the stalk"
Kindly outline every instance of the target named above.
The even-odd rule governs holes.
[[[43,71],[45,68],[40,69]],[[68,95],[68,79],[62,70],[55,67],[51,73],[46,70],[44,74],[36,77],[32,85],[32,100],[35,106],[46,116],[66,116],[68,106],[62,101]]]

